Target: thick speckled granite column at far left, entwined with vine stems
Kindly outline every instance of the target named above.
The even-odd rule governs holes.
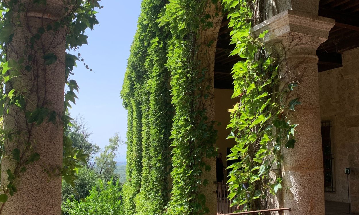
[[[22,163],[32,153],[38,153],[40,158],[25,165],[27,171],[18,171],[18,177],[14,180],[17,193],[9,195],[8,201],[1,207],[1,215],[61,214],[63,123],[60,116],[64,114],[65,29],[60,27],[45,32],[39,29],[47,29],[48,24],[55,29],[53,24],[64,16],[65,5],[62,0],[47,0],[46,5],[33,2],[18,2],[17,5],[22,4],[23,7],[19,12],[15,9],[12,20],[14,36],[7,46],[8,60],[18,62],[23,57],[24,63],[21,75],[6,83],[6,91],[16,89],[22,92],[26,105],[25,111],[12,105],[9,113],[4,116],[4,129],[19,135],[14,135],[13,139],[5,142],[5,155],[8,157],[1,164],[2,185],[8,184],[6,171],[10,169],[11,172],[16,172],[15,169],[19,168],[11,156],[11,150],[20,150]],[[32,36],[37,33],[41,33],[41,38],[32,40]],[[33,44],[33,48],[29,44]],[[55,54],[57,59],[45,65],[43,57],[49,53]],[[25,65],[31,67],[26,70]],[[48,123],[47,119],[38,126],[27,123],[28,115],[24,112],[32,112],[36,108],[56,111],[56,123]]]

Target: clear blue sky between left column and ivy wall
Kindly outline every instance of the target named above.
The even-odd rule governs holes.
[[[78,63],[74,69],[80,89],[71,116],[83,116],[92,132],[92,143],[104,147],[108,138],[119,132],[126,139],[127,111],[122,107],[120,91],[126,71],[130,46],[137,28],[141,0],[103,0],[96,15],[100,24],[88,30],[88,46],[81,56],[92,72]],[[126,161],[126,146],[121,147],[118,161]]]

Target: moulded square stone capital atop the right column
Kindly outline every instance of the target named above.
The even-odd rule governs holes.
[[[296,34],[315,38],[320,44],[328,39],[328,33],[334,24],[334,19],[301,11],[285,10],[256,25],[251,32],[258,37],[268,30],[263,40],[265,43],[278,42],[289,35]]]

